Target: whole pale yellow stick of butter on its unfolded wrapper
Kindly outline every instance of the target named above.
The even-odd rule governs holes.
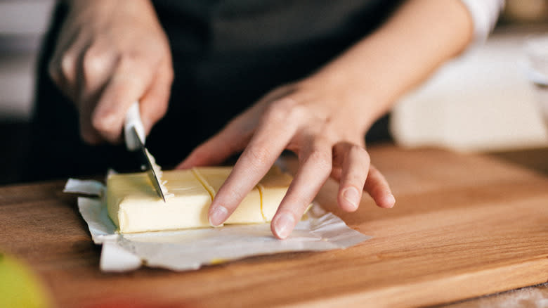
[[[107,178],[107,209],[122,233],[188,229],[210,226],[211,200],[232,167],[197,167],[164,171],[162,180],[172,193],[164,203],[142,173],[111,174]],[[226,224],[270,222],[292,181],[273,167],[242,200]]]

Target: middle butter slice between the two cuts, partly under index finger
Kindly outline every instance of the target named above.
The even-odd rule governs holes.
[[[221,188],[231,171],[232,167],[199,167],[193,169],[193,172],[211,193],[212,198],[215,198],[218,189]],[[245,196],[242,203],[238,205],[225,224],[256,224],[261,222],[265,222],[261,212],[261,193],[259,188],[255,187]]]

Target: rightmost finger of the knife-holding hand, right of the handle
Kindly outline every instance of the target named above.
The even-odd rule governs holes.
[[[174,70],[171,66],[171,59],[165,60],[152,79],[149,89],[141,97],[141,120],[147,135],[152,126],[167,113],[173,79]]]

